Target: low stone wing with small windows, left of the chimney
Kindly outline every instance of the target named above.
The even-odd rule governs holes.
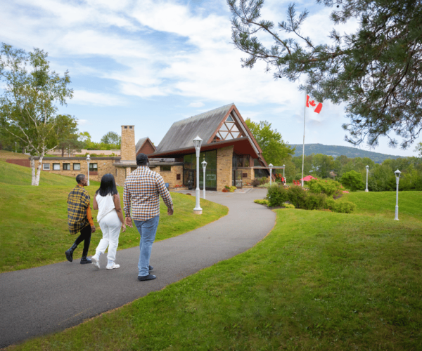
[[[113,164],[117,160],[114,157],[94,157],[91,159],[91,164],[97,164],[98,171],[90,172],[89,173],[89,180],[96,180],[101,181],[101,178],[106,173],[111,173],[113,176],[116,176],[115,166]],[[42,164],[49,164],[50,170],[43,171],[50,172],[54,174],[61,174],[62,176],[70,176],[76,177],[78,174],[85,174],[88,175],[88,164],[87,159],[84,157],[60,157],[60,159],[56,159],[56,157],[44,157],[42,160]],[[59,171],[53,171],[53,164],[60,164]],[[70,170],[63,169],[63,164],[70,164]],[[73,164],[80,164],[80,170],[74,170]],[[42,168],[41,168],[42,169]]]

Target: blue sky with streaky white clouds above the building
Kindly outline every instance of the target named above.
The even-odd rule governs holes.
[[[285,20],[289,2],[267,0],[263,18]],[[231,44],[225,0],[0,0],[0,5],[0,41],[27,51],[44,49],[56,72],[69,70],[75,96],[60,112],[75,116],[79,130],[94,141],[133,124],[136,139],[148,136],[158,145],[174,121],[234,102],[244,119],[269,121],[288,143],[302,143],[305,97],[298,83],[274,81],[263,63],[241,67],[244,55]],[[297,1],[298,12],[305,7],[310,16],[303,32],[326,41],[333,27],[330,9]],[[350,22],[336,29],[354,27]],[[321,114],[307,109],[305,143],[351,146],[341,128],[348,121],[343,111],[330,102]],[[391,149],[387,141],[373,151],[416,155],[414,146]]]

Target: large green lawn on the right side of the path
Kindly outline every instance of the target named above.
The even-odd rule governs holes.
[[[276,210],[245,253],[10,349],[422,350],[421,206],[385,218],[381,195],[352,194],[353,215]]]

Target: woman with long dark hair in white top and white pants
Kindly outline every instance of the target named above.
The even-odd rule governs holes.
[[[94,197],[94,210],[98,210],[97,220],[103,232],[103,239],[100,240],[96,253],[91,257],[91,260],[94,266],[99,268],[100,255],[106,252],[108,246],[106,268],[113,270],[120,267],[115,263],[116,251],[119,244],[120,227],[124,232],[126,225],[124,224],[115,178],[111,173],[107,173],[101,178],[100,188],[96,191]]]

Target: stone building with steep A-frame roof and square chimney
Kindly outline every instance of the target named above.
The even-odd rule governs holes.
[[[170,188],[196,188],[196,152],[193,139],[199,136],[200,162],[207,162],[205,189],[222,191],[226,185],[250,186],[259,176],[269,176],[262,150],[234,104],[219,107],[174,122],[155,147],[141,138],[135,144],[135,126],[122,126],[120,157],[92,157],[89,177],[101,180],[106,173],[115,176],[117,185],[136,169],[136,154],[147,154],[150,168],[161,174]],[[87,173],[84,157],[46,157],[43,170],[66,176]],[[203,189],[203,168],[200,166],[200,188]]]

